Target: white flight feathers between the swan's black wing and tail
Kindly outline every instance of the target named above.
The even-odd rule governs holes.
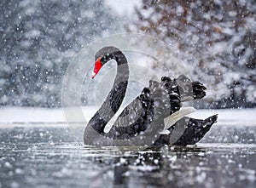
[[[189,107],[181,107],[179,111],[176,111],[171,116],[165,118],[165,129],[170,128],[181,118],[195,112],[195,108],[192,106]]]

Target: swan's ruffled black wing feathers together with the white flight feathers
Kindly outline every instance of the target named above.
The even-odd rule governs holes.
[[[188,84],[191,85],[191,82],[185,76],[173,80],[162,77],[161,82],[150,80],[148,88],[143,88],[142,93],[125,107],[108,134],[116,134],[114,137],[129,134],[132,137],[144,131],[153,118],[156,121],[166,118],[165,129],[170,128],[179,119],[195,111],[193,107],[180,109],[181,95],[184,98],[189,93],[185,90]]]

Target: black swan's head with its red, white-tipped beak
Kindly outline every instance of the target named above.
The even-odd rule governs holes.
[[[113,46],[103,47],[97,51],[95,54],[95,65],[91,78],[94,78],[102,66],[104,66],[109,60],[114,59],[114,54],[117,52],[120,52],[119,48],[115,48]]]

